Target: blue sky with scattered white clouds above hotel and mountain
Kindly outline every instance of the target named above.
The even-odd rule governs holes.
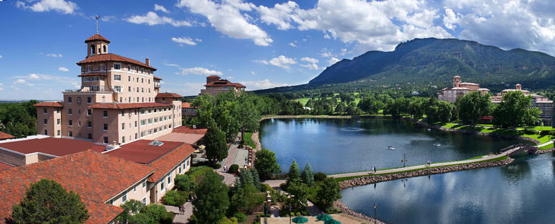
[[[555,55],[550,0],[0,0],[0,100],[61,100],[80,87],[85,39],[151,59],[162,92],[208,75],[247,90],[305,84],[327,66],[414,38],[459,38]]]

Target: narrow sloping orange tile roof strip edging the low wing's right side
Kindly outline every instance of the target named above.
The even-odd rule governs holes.
[[[148,166],[156,168],[157,171],[148,178],[148,181],[157,182],[168,174],[169,171],[177,167],[181,161],[191,156],[193,151],[195,151],[195,149],[191,144],[183,143],[177,149],[173,149],[173,151],[149,163]]]

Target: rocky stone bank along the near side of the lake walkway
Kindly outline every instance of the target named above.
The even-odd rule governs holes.
[[[341,189],[345,189],[345,188],[349,188],[349,187],[369,185],[369,184],[373,184],[373,183],[384,182],[384,181],[388,181],[388,180],[396,180],[396,179],[401,179],[401,178],[411,178],[411,177],[415,177],[415,176],[427,176],[427,175],[432,175],[432,174],[444,174],[444,173],[453,172],[453,171],[461,171],[461,170],[467,170],[467,169],[479,169],[479,168],[484,168],[484,167],[498,167],[498,166],[507,165],[507,164],[509,164],[513,161],[514,161],[513,158],[507,158],[506,160],[500,160],[500,161],[475,162],[475,163],[464,164],[464,165],[453,165],[453,166],[449,166],[449,167],[433,167],[433,168],[430,168],[430,169],[420,169],[420,170],[417,170],[417,171],[408,171],[408,172],[399,173],[399,174],[362,176],[362,177],[353,178],[353,179],[350,179],[350,180],[343,180],[343,181],[339,182],[339,187],[341,187]]]

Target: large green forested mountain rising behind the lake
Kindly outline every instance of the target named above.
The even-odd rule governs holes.
[[[393,51],[371,50],[327,67],[303,88],[345,83],[433,84],[452,76],[499,90],[520,83],[539,89],[555,85],[555,57],[536,51],[503,50],[461,39],[413,39]]]

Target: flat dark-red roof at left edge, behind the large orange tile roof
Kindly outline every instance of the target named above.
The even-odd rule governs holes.
[[[69,138],[35,138],[30,140],[19,140],[0,143],[0,147],[24,154],[41,152],[53,156],[66,156],[80,151],[86,151],[87,149],[94,151],[104,151],[104,149],[106,149],[106,147],[95,145],[93,142]]]

